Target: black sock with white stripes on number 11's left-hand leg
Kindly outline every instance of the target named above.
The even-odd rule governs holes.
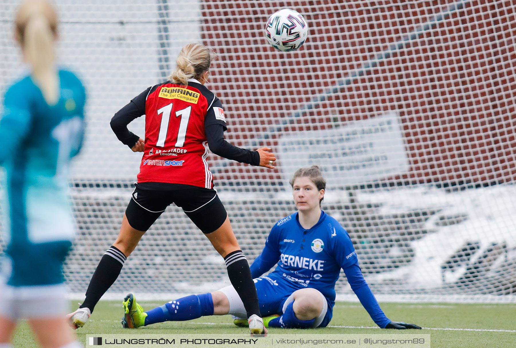
[[[86,290],[86,300],[79,308],[89,308],[91,312],[104,293],[115,283],[124,266],[125,255],[120,250],[111,246],[102,256],[99,266],[91,277],[90,285]]]

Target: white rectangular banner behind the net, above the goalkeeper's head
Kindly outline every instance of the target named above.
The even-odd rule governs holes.
[[[398,114],[280,138],[278,166],[285,185],[298,168],[314,164],[321,167],[331,187],[378,181],[408,171]]]

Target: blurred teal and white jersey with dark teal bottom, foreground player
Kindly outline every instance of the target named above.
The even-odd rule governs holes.
[[[60,283],[61,250],[73,238],[68,168],[83,142],[86,95],[73,73],[60,70],[58,77],[54,106],[30,76],[12,84],[4,97],[0,165],[6,169],[2,210],[8,257],[3,273],[12,286]],[[39,271],[40,264],[45,269]]]

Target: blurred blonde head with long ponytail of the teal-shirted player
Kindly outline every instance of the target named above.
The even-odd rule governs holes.
[[[49,105],[59,98],[59,79],[55,67],[54,40],[57,37],[57,15],[46,0],[27,0],[18,9],[15,37],[32,68],[38,85]]]

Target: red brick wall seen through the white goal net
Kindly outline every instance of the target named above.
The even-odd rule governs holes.
[[[230,119],[229,140],[245,146],[265,135],[273,146],[289,132],[344,126],[394,110],[410,170],[384,181],[486,185],[514,179],[516,20],[510,1],[322,3],[203,3],[202,39],[220,56],[211,82]],[[263,34],[268,16],[281,8],[299,11],[310,25],[309,39],[294,53],[275,51]],[[445,18],[416,40],[270,132],[440,14]],[[278,179],[237,163],[215,166],[222,185],[235,178]]]

